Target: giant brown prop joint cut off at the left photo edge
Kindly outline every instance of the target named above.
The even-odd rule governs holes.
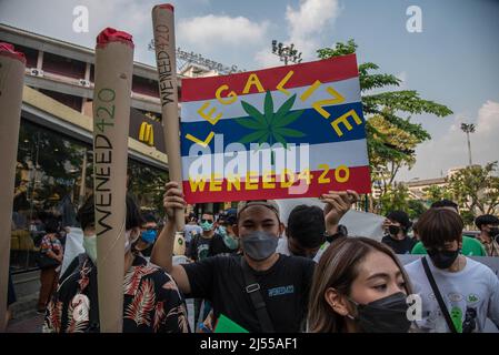
[[[21,123],[24,54],[13,45],[0,43],[0,332],[4,331],[7,285],[9,280],[10,234],[18,155],[19,125]]]

